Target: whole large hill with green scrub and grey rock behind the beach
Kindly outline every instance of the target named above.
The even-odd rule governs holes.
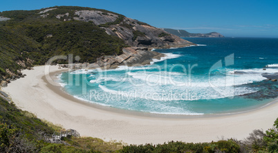
[[[108,10],[60,6],[4,11],[0,12],[0,83],[21,77],[20,69],[44,64],[55,55],[78,55],[78,62],[94,63],[104,55],[120,55],[128,46],[187,45],[194,43]]]

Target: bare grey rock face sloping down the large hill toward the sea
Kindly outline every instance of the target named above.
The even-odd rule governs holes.
[[[74,17],[78,21],[92,22],[106,30],[107,34],[123,39],[125,43],[136,47],[173,48],[195,45],[160,28],[149,26],[135,19],[120,14],[102,12],[100,10],[76,11]]]

